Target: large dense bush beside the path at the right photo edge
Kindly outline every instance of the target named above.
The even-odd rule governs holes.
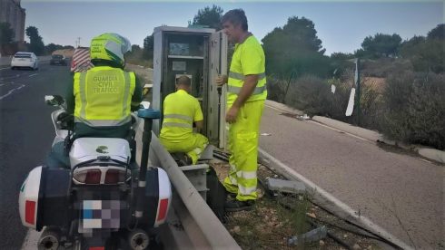
[[[391,139],[445,149],[445,76],[394,73],[383,94],[382,131]]]

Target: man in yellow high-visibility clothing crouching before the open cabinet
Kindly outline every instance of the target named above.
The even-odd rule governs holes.
[[[176,82],[177,91],[165,97],[163,101],[163,127],[159,139],[167,151],[183,152],[181,165],[196,164],[209,140],[200,133],[203,129],[203,111],[199,101],[190,95],[191,80],[182,75]]]

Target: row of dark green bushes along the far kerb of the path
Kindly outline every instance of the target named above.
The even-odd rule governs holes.
[[[353,72],[340,79],[323,80],[311,75],[292,80],[269,78],[269,99],[284,102],[310,116],[322,115],[357,124],[357,104],[345,116]],[[361,78],[363,128],[379,130],[390,139],[445,149],[445,75],[394,72],[385,84]],[[335,93],[331,92],[335,85]],[[285,98],[284,98],[285,97]]]

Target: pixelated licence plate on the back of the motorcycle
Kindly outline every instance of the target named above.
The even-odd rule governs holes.
[[[120,200],[84,200],[82,224],[84,228],[119,228]]]

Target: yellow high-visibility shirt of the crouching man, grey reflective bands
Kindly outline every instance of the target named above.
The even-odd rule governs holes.
[[[199,101],[186,91],[178,90],[163,101],[163,128],[160,137],[180,141],[193,133],[193,121],[203,120]]]

